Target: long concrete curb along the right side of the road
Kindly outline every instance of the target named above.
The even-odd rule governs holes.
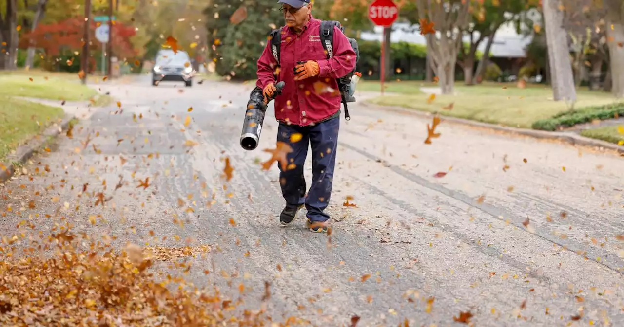
[[[363,107],[368,107],[368,108],[376,107],[376,108],[381,108],[383,110],[388,110],[388,111],[407,113],[409,115],[414,115],[414,116],[418,116],[421,118],[431,118],[433,116],[433,113],[427,112],[427,111],[419,111],[416,109],[407,109],[407,108],[394,107],[394,106],[391,107],[391,106],[374,105],[374,104],[366,103],[366,102],[363,103]],[[456,118],[456,117],[443,116],[443,115],[440,115],[440,118],[442,119],[442,121],[449,121],[451,123],[457,123],[457,124],[467,125],[467,126],[472,126],[472,127],[487,128],[489,130],[502,131],[508,134],[524,135],[524,136],[530,136],[532,138],[541,138],[541,139],[547,139],[547,140],[560,140],[570,145],[582,145],[582,146],[592,146],[592,147],[597,147],[597,148],[610,149],[619,153],[620,156],[624,156],[624,146],[615,145],[613,143],[608,143],[602,140],[595,140],[593,138],[586,138],[585,136],[576,135],[574,133],[527,130],[525,128],[514,128],[514,127],[509,127],[509,126],[494,125],[494,124],[489,124],[489,123],[482,123],[480,121],[473,121],[473,120],[467,120],[463,118]]]

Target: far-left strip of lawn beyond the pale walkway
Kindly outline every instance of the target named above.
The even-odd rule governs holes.
[[[0,73],[0,96],[86,101],[94,95],[97,95],[97,92],[80,84],[76,73],[52,73],[40,70]]]

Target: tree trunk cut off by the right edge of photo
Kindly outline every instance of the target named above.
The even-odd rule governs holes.
[[[609,47],[612,92],[624,97],[624,2],[605,0],[607,14],[607,45]]]

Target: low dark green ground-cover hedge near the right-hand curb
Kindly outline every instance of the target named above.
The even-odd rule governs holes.
[[[534,130],[556,131],[560,127],[590,123],[593,120],[607,120],[616,116],[624,116],[624,103],[563,111],[552,118],[535,121],[531,127]]]

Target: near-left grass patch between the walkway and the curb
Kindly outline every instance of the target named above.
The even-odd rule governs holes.
[[[63,115],[62,108],[0,95],[0,160]]]

